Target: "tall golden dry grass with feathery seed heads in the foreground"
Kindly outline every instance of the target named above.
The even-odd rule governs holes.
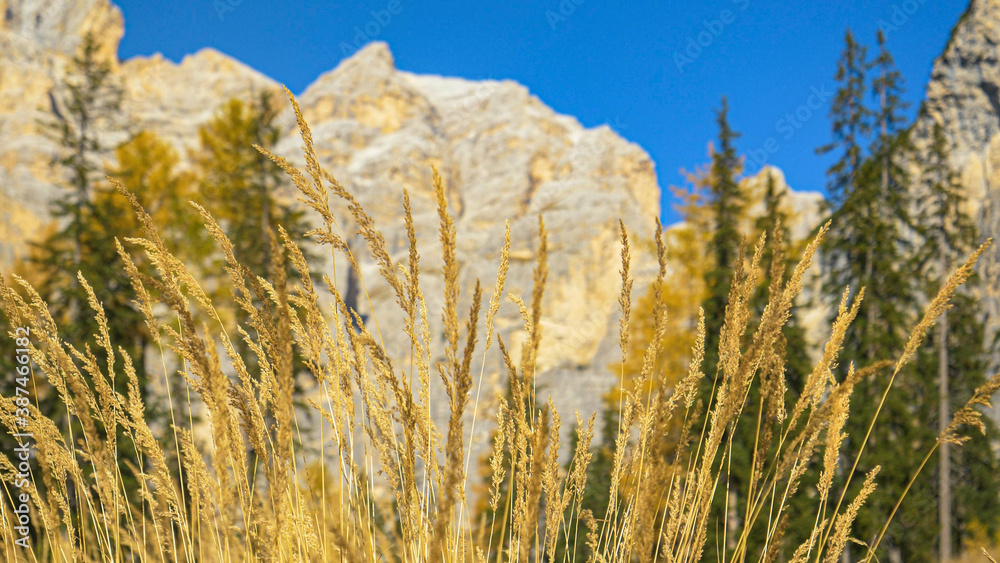
[[[15,491],[8,485],[3,497],[5,520],[0,526],[7,560],[534,561],[542,560],[543,554],[551,560],[561,547],[575,545],[579,536],[585,538],[585,548],[567,552],[566,560],[683,563],[703,558],[710,527],[721,523],[723,543],[729,546],[727,559],[772,561],[787,543],[791,501],[807,490],[818,493],[811,504],[815,523],[811,533],[805,531],[804,543],[789,546],[792,561],[838,559],[852,541],[852,523],[876,487],[878,473],[878,468],[869,473],[853,498],[844,498],[840,492],[846,487],[835,490],[833,486],[843,461],[843,428],[850,416],[851,394],[857,381],[875,376],[885,366],[852,366],[846,380],[833,377],[844,335],[864,295],[859,291],[851,302],[845,291],[829,340],[804,391],[791,409],[785,409],[785,352],[779,337],[825,228],[805,249],[788,279],[781,279],[782,268],[769,268],[770,302],[757,319],[751,298],[760,272],[768,267],[760,263],[764,237],[745,257],[746,265],[738,262],[720,339],[720,377],[706,402],[699,396],[705,378],[703,318],[690,353],[690,369],[679,384],[670,390],[644,384],[662,376],[655,359],[670,311],[632,309],[631,249],[622,226],[623,355],[629,349],[631,315],[654,315],[655,337],[645,351],[634,387],[645,391],[623,393],[618,405],[611,506],[607,514],[593,514],[582,507],[582,499],[588,487],[594,417],[585,421],[576,414],[582,447],[564,468],[557,455],[560,414],[551,401],[536,396],[536,358],[544,345],[541,304],[548,280],[544,222],[539,219],[530,301],[509,295],[521,312],[526,336],[520,362],[515,364],[494,331],[505,290],[509,227],[486,311],[481,310],[483,295],[478,284],[470,310],[460,311],[457,233],[445,186],[435,172],[444,264],[444,349],[439,355],[433,349],[430,313],[419,283],[420,254],[408,194],[404,193],[402,202],[408,259],[395,263],[371,217],[320,166],[308,125],[294,99],[292,103],[304,143],[305,170],[260,150],[285,169],[301,201],[318,215],[320,226],[310,233],[314,240],[328,246],[332,256],[346,258],[350,267],[358,268],[358,257],[345,243],[329,197],[332,194],[346,204],[404,313],[402,325],[380,327],[377,311],[370,325],[360,322],[341,299],[336,275],[323,278],[332,295],[333,306],[327,309],[331,301],[314,287],[314,272],[283,230],[269,237],[274,241],[273,262],[291,264],[300,274],[298,281],[286,279],[280,267],[274,268],[270,279],[254,276],[236,259],[222,228],[199,208],[196,211],[226,258],[234,304],[249,319],[238,334],[230,334],[208,293],[185,264],[167,251],[135,198],[118,186],[143,225],[142,238],[127,242],[141,248],[157,274],[140,274],[121,245],[119,253],[156,345],[182,366],[176,373],[164,368],[162,377],[182,378],[188,394],[170,398],[169,427],[150,427],[132,359],[110,341],[103,329],[105,311],[96,299],[91,299],[90,306],[102,327],[95,335],[97,349],[78,350],[60,338],[45,304],[27,282],[0,278],[4,314],[12,325],[31,329],[35,377],[48,380],[74,422],[67,428],[57,427],[31,407],[30,426],[23,430],[37,440],[30,486],[37,545],[34,551],[25,551],[13,544],[16,536],[9,514]],[[654,289],[662,291],[666,258],[658,225],[655,238],[660,270]],[[930,304],[910,345],[892,362],[894,373],[909,360],[978,255],[956,272]],[[775,256],[780,260],[781,252]],[[362,290],[367,296],[367,287],[363,285]],[[485,345],[483,356],[476,358],[481,324]],[[750,326],[755,328],[746,337]],[[411,345],[411,365],[393,364],[382,344],[384,330],[405,333]],[[512,390],[510,399],[498,399],[498,431],[487,493],[493,514],[502,518],[474,526],[466,491],[471,447],[465,441],[465,421],[471,408],[472,426],[477,423],[486,351],[494,337]],[[247,367],[249,358],[237,352],[236,339],[242,339],[255,356],[255,370]],[[324,422],[315,447],[307,447],[308,438],[301,435],[298,424],[302,413],[292,401],[293,353],[304,359],[322,391],[321,400],[311,405]],[[435,357],[444,359],[434,361]],[[478,384],[474,384],[477,360]],[[450,414],[444,429],[431,418],[434,373],[448,401]],[[889,387],[891,383],[892,379]],[[753,411],[757,414],[748,414],[746,398],[754,386],[760,390],[761,408]],[[955,423],[939,443],[960,443],[958,427],[977,426],[976,406],[998,387],[1000,379],[994,378],[980,389],[969,406],[956,413]],[[168,384],[165,388],[175,387]],[[117,389],[126,391],[122,394]],[[193,435],[191,420],[174,412],[175,404],[184,401],[188,409],[192,404],[203,405],[204,436]],[[16,408],[11,398],[0,399],[0,423],[9,431],[17,431]],[[741,424],[752,425],[757,439],[751,478],[740,492],[747,499],[745,513],[740,525],[730,529],[726,514],[720,514],[713,501],[728,498],[731,440]],[[677,427],[682,431],[676,447],[663,448],[659,437]],[[128,440],[119,443],[120,435]],[[173,469],[175,463],[180,471]],[[807,471],[810,463],[818,464],[821,471],[815,482],[804,482],[812,475]],[[134,481],[126,479],[122,467],[130,468],[128,477]],[[0,474],[6,483],[15,471],[7,458],[0,457]],[[891,517],[886,515],[887,520]],[[763,548],[751,552],[750,545]]]

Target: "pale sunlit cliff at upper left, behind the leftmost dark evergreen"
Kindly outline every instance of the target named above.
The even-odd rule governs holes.
[[[192,146],[198,125],[219,103],[278,88],[211,49],[179,65],[160,56],[120,63],[123,25],[121,12],[106,0],[0,1],[0,264],[22,254],[47,222],[49,203],[61,196],[51,169],[55,145],[40,124],[85,35],[95,39],[98,56],[111,64],[123,91],[122,126],[106,132],[109,145],[151,129],[179,149]]]

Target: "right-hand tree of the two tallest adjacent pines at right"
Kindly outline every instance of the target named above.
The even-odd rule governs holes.
[[[865,312],[858,319],[860,322],[855,330],[863,338],[858,344],[867,346],[861,358],[864,363],[898,356],[906,333],[920,310],[916,298],[918,288],[914,283],[917,278],[912,275],[913,248],[908,242],[909,230],[914,227],[909,216],[910,178],[902,165],[912,155],[902,115],[906,107],[902,102],[902,78],[881,32],[877,36],[877,47],[878,55],[871,68],[871,93],[877,103],[873,115],[876,136],[866,162],[871,168],[870,176],[863,178],[865,187],[859,190],[859,194],[864,194],[863,208],[867,210],[863,221],[858,218],[859,225],[865,227],[859,231],[866,235],[863,239],[865,272],[863,280],[859,280],[866,288],[866,303],[862,305]],[[934,432],[926,423],[927,417],[920,412],[919,398],[926,387],[911,367],[897,377],[886,399],[879,423],[865,449],[866,467],[859,466],[862,470],[875,464],[883,467],[879,490],[870,500],[868,514],[871,516],[859,520],[861,534],[873,530],[879,524],[874,521],[874,514],[889,510],[902,493],[913,470],[909,454],[915,447],[923,449],[933,443]],[[874,416],[873,405],[877,404],[874,401],[882,395],[884,383],[878,378],[865,381],[859,391],[871,400],[863,399],[862,416],[848,426],[848,432],[854,437],[849,439],[852,453],[860,447],[858,438],[864,436],[866,428],[861,424],[867,425]],[[933,502],[929,486],[917,487],[910,495],[907,510]],[[898,550],[904,560],[921,560],[931,552],[933,536],[930,520],[916,514],[907,518],[904,511],[888,532],[887,547]]]

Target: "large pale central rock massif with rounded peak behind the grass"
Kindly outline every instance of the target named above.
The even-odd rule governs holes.
[[[421,282],[436,334],[443,280],[431,166],[444,178],[455,216],[461,310],[467,309],[476,280],[490,291],[505,222],[512,233],[507,291],[529,297],[538,216],[544,217],[550,273],[538,359],[540,396],[551,394],[565,416],[574,409],[585,414],[598,409],[614,382],[608,365],[618,353],[618,220],[638,240],[651,236],[659,214],[649,156],[607,127],[584,129],[557,115],[516,83],[400,72],[381,43],[321,76],[299,102],[321,160],[371,213],[393,259],[405,260],[402,190],[410,193]],[[291,129],[292,116],[285,119]],[[277,150],[300,161],[300,144],[290,135]],[[349,230],[350,223],[345,225]],[[645,287],[653,259],[636,254],[636,287]],[[408,340],[400,331],[385,330],[401,325],[394,297],[374,264],[367,261],[362,270],[386,346],[405,358]],[[359,305],[367,311],[367,303]],[[501,306],[496,325],[517,361],[523,336],[513,304]],[[486,359],[488,381],[500,373],[495,352],[494,343]],[[433,405],[443,420],[446,402]],[[481,438],[479,443],[486,445]]]

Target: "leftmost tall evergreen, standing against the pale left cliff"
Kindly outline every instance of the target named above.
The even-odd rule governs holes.
[[[78,274],[93,287],[104,307],[113,342],[135,360],[144,384],[147,335],[141,314],[131,302],[131,285],[117,255],[114,240],[121,217],[97,197],[104,159],[111,147],[106,138],[117,131],[121,90],[110,64],[99,58],[96,41],[86,36],[67,78],[50,96],[51,116],[43,123],[57,143],[55,164],[64,173],[66,197],[52,204],[56,228],[30,251],[38,272],[38,290],[49,303],[66,341],[82,350],[94,346],[98,326]],[[41,399],[41,397],[40,397]],[[43,408],[61,416],[62,407],[50,396]]]

